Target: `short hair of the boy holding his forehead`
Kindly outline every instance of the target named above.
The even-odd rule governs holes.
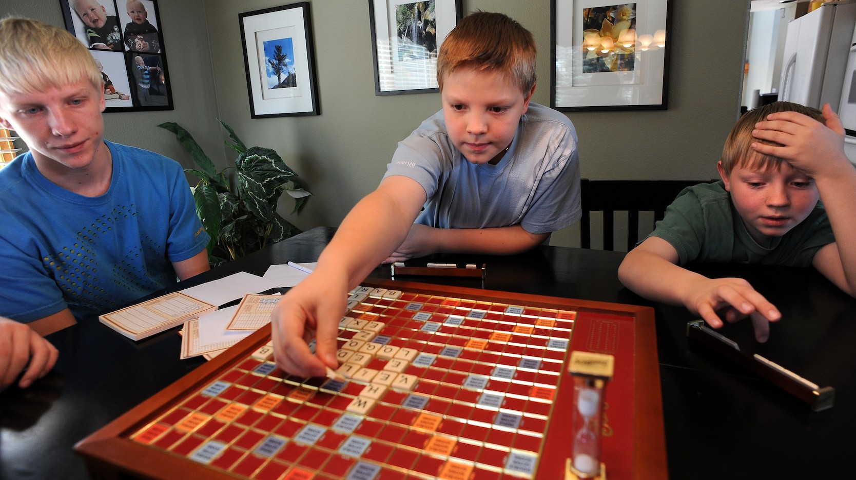
[[[761,105],[747,111],[740,120],[731,128],[728,133],[728,138],[725,139],[725,146],[722,148],[722,171],[725,175],[729,175],[731,170],[737,167],[746,167],[747,169],[767,170],[771,168],[779,168],[782,159],[772,155],[758,153],[752,149],[753,143],[764,145],[779,145],[764,139],[756,139],[752,136],[752,130],[758,121],[764,121],[771,113],[776,112],[797,112],[805,116],[824,123],[823,112],[805,105],[794,104],[793,102],[773,102],[772,104]]]

